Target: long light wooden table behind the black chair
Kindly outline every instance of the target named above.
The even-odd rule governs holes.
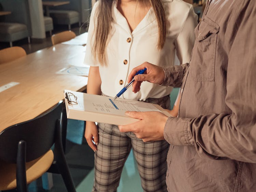
[[[0,132],[27,121],[64,99],[63,90],[86,89],[88,77],[56,74],[68,65],[83,66],[86,47],[57,44],[0,65]]]

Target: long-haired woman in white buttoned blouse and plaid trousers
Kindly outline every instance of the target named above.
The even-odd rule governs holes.
[[[173,65],[176,53],[180,63],[189,62],[196,25],[193,6],[182,0],[99,0],[88,30],[87,93],[115,97],[128,83],[130,71],[145,61]],[[144,82],[138,93],[128,89],[120,98],[169,108],[171,90]],[[143,190],[166,191],[166,141],[144,143],[133,133],[120,133],[116,125],[98,123],[97,127],[89,121],[85,138],[95,151],[93,191],[116,191],[131,148]]]

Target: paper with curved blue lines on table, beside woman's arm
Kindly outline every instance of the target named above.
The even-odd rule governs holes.
[[[69,65],[69,67],[66,67],[57,71],[56,74],[88,76],[89,69],[90,69],[89,65],[85,65],[85,67]]]

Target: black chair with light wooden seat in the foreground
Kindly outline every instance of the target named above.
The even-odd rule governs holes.
[[[27,183],[51,172],[60,173],[68,192],[75,192],[63,152],[63,125],[67,126],[67,116],[60,101],[44,114],[0,133],[0,190],[27,192]]]

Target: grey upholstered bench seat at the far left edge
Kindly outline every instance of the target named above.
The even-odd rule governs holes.
[[[28,38],[30,42],[28,29],[25,24],[0,22],[0,41],[10,42],[10,46],[12,46],[13,41],[24,38]]]

